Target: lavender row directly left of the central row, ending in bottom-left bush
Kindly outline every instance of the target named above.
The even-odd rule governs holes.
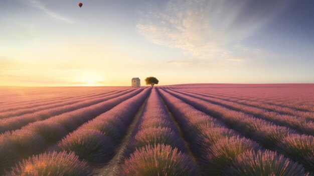
[[[28,167],[32,167],[34,175],[91,175],[92,169],[86,161],[106,162],[113,156],[114,146],[121,141],[148,93],[149,89],[142,91],[68,134],[58,143],[62,152],[43,153],[25,159],[8,175],[28,173]],[[39,167],[38,162],[45,167]]]

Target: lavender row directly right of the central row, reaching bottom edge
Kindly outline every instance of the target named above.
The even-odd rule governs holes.
[[[301,165],[263,150],[258,143],[228,129],[221,121],[159,91],[184,129],[203,175],[305,175]]]

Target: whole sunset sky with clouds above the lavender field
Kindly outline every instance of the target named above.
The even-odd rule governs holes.
[[[312,0],[0,3],[0,86],[314,83]]]

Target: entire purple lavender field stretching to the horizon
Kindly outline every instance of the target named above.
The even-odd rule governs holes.
[[[314,84],[1,87],[0,175],[313,175]]]

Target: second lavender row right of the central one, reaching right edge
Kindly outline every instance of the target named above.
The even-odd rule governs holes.
[[[249,116],[245,113],[211,104],[184,94],[167,90],[172,95],[188,104],[221,119],[229,127],[240,131],[243,135],[253,138],[263,146],[275,149],[294,161],[303,164],[307,171],[314,171],[313,153],[314,138],[310,135],[301,135],[295,131],[272,122]]]

